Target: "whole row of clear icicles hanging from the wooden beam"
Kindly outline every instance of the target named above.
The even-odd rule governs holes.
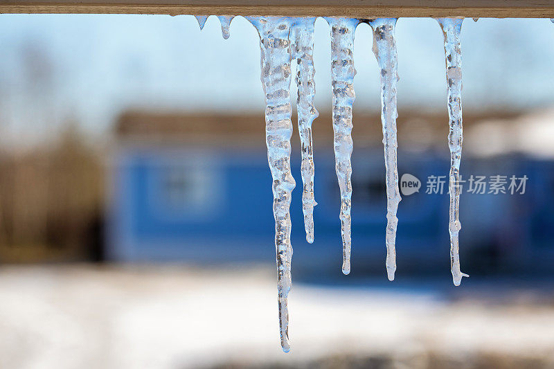
[[[200,28],[207,16],[197,16]],[[223,37],[229,37],[233,16],[220,16]],[[301,175],[303,181],[303,213],[307,242],[314,242],[314,158],[312,150],[312,122],[318,116],[314,107],[314,22],[313,17],[247,17],[260,35],[261,80],[265,93],[265,123],[267,159],[273,178],[273,211],[275,217],[275,246],[278,268],[278,306],[281,346],[290,350],[288,335],[288,308],[291,278],[292,244],[289,208],[296,182],[290,168],[292,136],[292,105],[290,84],[291,63],[296,60],[298,87],[298,132],[301,141]],[[352,105],[355,100],[354,35],[358,24],[368,23],[373,29],[373,53],[377,58],[381,76],[381,121],[386,172],[386,272],[394,280],[396,270],[396,217],[400,203],[397,171],[396,85],[397,51],[395,42],[396,18],[352,19],[328,17],[331,30],[332,125],[334,132],[335,170],[339,181],[341,208],[342,253],[344,274],[350,273],[351,199],[352,199]],[[458,255],[458,219],[460,200],[460,161],[462,151],[461,108],[461,47],[460,32],[463,19],[437,19],[445,37],[447,66],[447,97],[449,114],[449,233],[450,259],[454,285],[460,285],[463,276]]]

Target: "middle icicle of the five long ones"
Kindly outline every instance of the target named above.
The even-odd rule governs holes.
[[[350,273],[350,206],[352,204],[352,105],[354,92],[354,33],[358,19],[326,18],[331,27],[331,79],[335,171],[341,191],[342,272]]]

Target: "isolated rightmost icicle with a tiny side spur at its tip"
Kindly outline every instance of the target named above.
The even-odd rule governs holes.
[[[448,116],[450,131],[448,146],[450,148],[450,267],[454,285],[459,286],[462,277],[469,277],[460,270],[460,255],[458,253],[458,233],[462,228],[458,219],[460,205],[460,161],[462,155],[462,51],[460,33],[463,19],[437,19],[445,37],[446,79],[448,96]]]

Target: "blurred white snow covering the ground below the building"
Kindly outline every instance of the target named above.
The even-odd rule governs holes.
[[[294,365],[418,352],[554,363],[554,305],[296,283],[289,308],[292,351],[284,354],[273,269],[2,267],[0,368]]]

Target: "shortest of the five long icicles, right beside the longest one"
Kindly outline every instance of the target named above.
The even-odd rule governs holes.
[[[296,85],[298,98],[298,134],[302,147],[302,208],[306,241],[314,242],[314,153],[312,147],[312,122],[319,116],[314,107],[316,93],[314,81],[314,22],[315,18],[297,18],[292,28],[293,53],[296,58]]]

